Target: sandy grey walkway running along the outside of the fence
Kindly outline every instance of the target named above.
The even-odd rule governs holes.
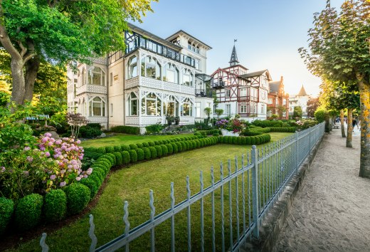
[[[370,179],[359,177],[360,137],[322,142],[274,251],[370,251]]]

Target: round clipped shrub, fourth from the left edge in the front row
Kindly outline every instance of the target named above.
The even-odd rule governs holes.
[[[67,209],[68,214],[78,214],[90,201],[90,189],[81,183],[70,184],[65,188],[65,194],[67,195]]]

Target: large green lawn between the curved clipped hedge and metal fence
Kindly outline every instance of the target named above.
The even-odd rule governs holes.
[[[290,133],[271,133],[272,141],[280,140]],[[172,137],[172,136],[171,136]],[[148,140],[146,138],[146,140]],[[152,140],[152,138],[151,138]],[[134,141],[134,140],[132,140]],[[138,140],[139,141],[139,140]],[[86,142],[87,143],[87,142]],[[129,202],[129,221],[131,228],[142,224],[149,219],[149,190],[154,191],[154,206],[156,214],[168,209],[171,204],[170,184],[174,182],[176,203],[186,199],[186,175],[189,175],[191,184],[191,194],[199,191],[199,174],[203,171],[204,188],[211,184],[210,167],[215,168],[215,181],[220,178],[220,162],[224,165],[224,176],[227,176],[227,160],[238,156],[240,167],[240,156],[250,152],[250,146],[240,145],[213,145],[202,149],[181,152],[169,157],[132,164],[125,169],[112,172],[107,187],[103,191],[97,206],[90,214],[94,215],[95,235],[97,236],[97,246],[120,236],[125,231],[122,221],[123,202]],[[232,166],[232,170],[235,167]],[[232,194],[234,194],[235,182],[232,183]],[[240,187],[240,184],[239,184]],[[235,194],[234,194],[235,195]],[[215,199],[220,198],[220,191],[216,191]],[[224,216],[225,216],[225,236],[226,248],[228,248],[228,186],[225,187],[224,195]],[[241,211],[241,198],[239,195]],[[221,214],[220,202],[216,201],[216,251],[220,250],[221,241]],[[204,232],[206,251],[211,246],[211,200],[210,196],[204,199]],[[235,211],[236,204],[233,202]],[[194,243],[192,250],[200,251],[200,207],[199,203],[191,206],[191,237]],[[186,211],[176,215],[176,250],[187,250],[186,246]],[[233,216],[235,220],[235,214]],[[247,216],[248,219],[248,216]],[[240,217],[241,221],[241,217]],[[235,224],[235,221],[234,221]],[[241,225],[240,225],[241,226]],[[64,226],[62,229],[48,233],[46,243],[50,251],[88,251],[90,238],[88,237],[89,221],[88,215],[84,216],[75,223]],[[235,225],[233,233],[236,232]],[[170,222],[165,221],[155,229],[156,251],[170,250]],[[41,235],[41,234],[40,234]],[[234,236],[235,237],[235,236]],[[17,251],[39,251],[39,239],[23,243]],[[145,234],[137,241],[130,243],[132,251],[149,251],[149,233]]]

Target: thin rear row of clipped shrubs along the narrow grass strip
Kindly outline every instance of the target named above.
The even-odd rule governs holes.
[[[106,154],[106,153],[129,151],[130,149],[138,149],[138,148],[143,148],[143,147],[154,147],[156,145],[166,145],[171,142],[196,140],[196,139],[200,139],[201,137],[203,136],[194,135],[190,137],[174,137],[174,138],[169,138],[165,140],[141,142],[141,143],[130,144],[130,145],[115,145],[115,146],[107,146],[107,147],[85,147],[84,157],[96,160],[102,154]]]

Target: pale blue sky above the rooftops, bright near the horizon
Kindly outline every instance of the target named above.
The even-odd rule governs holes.
[[[342,1],[331,4],[339,8]],[[321,81],[307,70],[298,48],[307,48],[313,14],[325,5],[326,0],[159,0],[135,25],[161,38],[184,30],[211,46],[208,75],[229,65],[237,39],[238,61],[249,73],[268,69],[273,81],[283,76],[286,93],[295,95],[304,85],[317,96]]]

